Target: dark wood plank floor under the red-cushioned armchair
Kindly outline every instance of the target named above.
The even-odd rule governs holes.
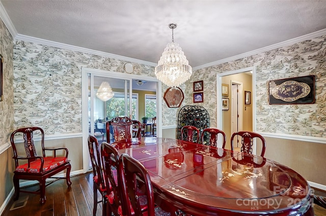
[[[39,204],[39,195],[22,193],[19,199],[10,201],[2,216],[84,216],[92,215],[93,210],[93,174],[71,177],[72,187],[67,188],[66,181],[61,179],[46,188],[46,203]],[[31,186],[38,189],[38,186]],[[315,189],[314,194],[326,196],[325,191]],[[98,194],[99,195],[99,194]],[[101,200],[98,196],[98,200]],[[26,201],[24,205],[24,201]],[[19,207],[22,206],[23,207]],[[18,207],[10,210],[11,207]],[[316,216],[326,216],[326,210],[314,207]],[[97,216],[102,215],[101,203],[97,205]]]

